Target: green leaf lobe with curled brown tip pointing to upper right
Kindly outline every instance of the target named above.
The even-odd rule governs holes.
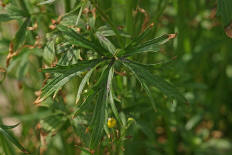
[[[139,53],[157,52],[160,50],[161,45],[165,44],[170,39],[175,38],[175,36],[175,34],[165,34],[158,38],[151,39],[143,44],[139,44],[138,46],[128,47],[125,49],[125,53],[122,55],[128,57]]]

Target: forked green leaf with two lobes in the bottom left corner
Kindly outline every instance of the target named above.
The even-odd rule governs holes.
[[[18,124],[13,126],[0,125],[0,134],[3,135],[6,139],[8,139],[11,143],[13,143],[18,149],[20,149],[24,153],[29,153],[19,142],[18,140],[8,131],[8,129],[12,129],[18,126]]]

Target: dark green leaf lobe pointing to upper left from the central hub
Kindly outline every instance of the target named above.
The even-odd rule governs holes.
[[[65,35],[64,37],[68,40],[69,43],[73,45],[77,45],[79,47],[93,50],[100,55],[104,55],[103,51],[105,50],[102,47],[85,39],[82,35],[78,34],[73,29],[63,26],[63,25],[59,25],[57,26],[57,28],[59,31],[61,31]]]

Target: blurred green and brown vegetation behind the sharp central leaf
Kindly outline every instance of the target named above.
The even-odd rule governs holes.
[[[41,11],[33,19],[42,33],[46,33],[51,31],[51,19],[70,11],[78,1],[55,1],[43,7],[37,5],[42,0],[25,2],[30,11]],[[186,105],[179,104],[159,92],[153,93],[159,109],[154,112],[136,79],[117,76],[115,88],[121,100],[118,108],[133,117],[136,123],[127,131],[130,138],[123,142],[123,151],[116,154],[232,154],[232,41],[225,33],[231,18],[223,16],[227,6],[218,9],[223,2],[226,1],[219,4],[220,0],[97,0],[114,24],[132,37],[151,23],[154,23],[154,29],[148,38],[177,33],[160,53],[147,53],[133,59],[143,63],[172,60],[157,65],[154,73],[167,77],[189,101]],[[1,3],[0,12],[4,13],[3,4],[7,5],[7,1]],[[105,24],[101,20],[96,22],[97,25]],[[21,122],[13,133],[34,153],[45,145],[44,154],[85,154],[75,146],[79,139],[69,130],[61,130],[47,144],[41,144],[43,136],[37,124],[51,112],[47,106],[33,105],[35,92],[44,79],[38,72],[43,51],[25,49],[27,54],[20,59],[15,57],[6,67],[9,44],[18,27],[15,20],[0,23],[0,78],[4,76],[3,70],[7,71],[0,84],[0,120],[8,125]],[[75,79],[65,86],[65,104],[73,104],[79,82]],[[1,140],[0,136],[0,144],[3,144]],[[9,154],[20,154],[12,149],[13,145],[8,145]],[[0,154],[3,153],[2,146]]]

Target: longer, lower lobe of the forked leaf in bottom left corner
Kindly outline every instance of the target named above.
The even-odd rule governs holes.
[[[18,149],[20,149],[24,153],[29,153],[19,142],[18,140],[11,135],[6,129],[0,127],[0,133],[4,135],[11,143],[13,143]]]

